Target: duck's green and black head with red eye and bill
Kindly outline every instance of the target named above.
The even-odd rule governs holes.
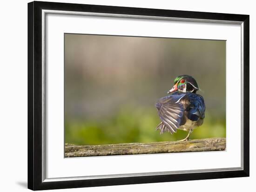
[[[175,91],[196,93],[197,90],[199,90],[199,87],[192,76],[179,75],[174,79],[174,86],[168,93],[173,93]]]

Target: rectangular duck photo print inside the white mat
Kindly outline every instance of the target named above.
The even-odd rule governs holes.
[[[65,157],[223,151],[226,41],[64,34]]]

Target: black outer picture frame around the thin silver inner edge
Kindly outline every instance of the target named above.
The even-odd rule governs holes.
[[[42,10],[116,13],[243,22],[243,170],[164,174],[106,179],[42,181]],[[28,188],[47,190],[61,188],[127,185],[197,179],[219,179],[249,176],[249,15],[203,13],[133,7],[113,7],[34,1],[28,3]]]

